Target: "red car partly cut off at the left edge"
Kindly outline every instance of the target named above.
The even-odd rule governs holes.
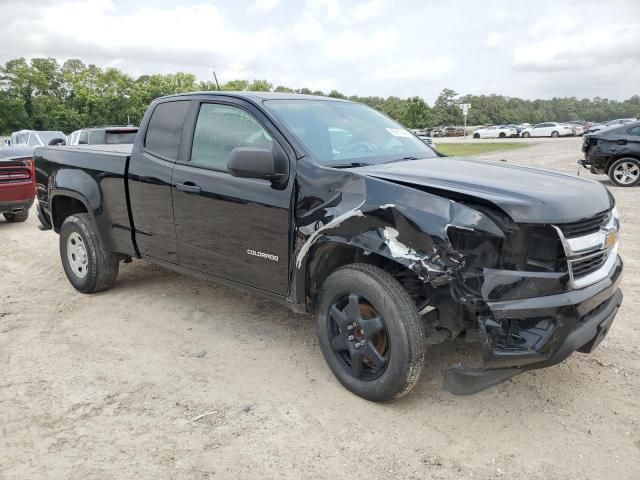
[[[36,195],[33,147],[0,147],[0,213],[24,222]]]

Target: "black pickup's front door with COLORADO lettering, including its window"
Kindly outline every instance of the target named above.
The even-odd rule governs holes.
[[[195,101],[192,116],[188,161],[176,163],[172,181],[180,265],[285,295],[293,181],[277,190],[227,170],[234,148],[285,154],[284,138],[240,100]]]

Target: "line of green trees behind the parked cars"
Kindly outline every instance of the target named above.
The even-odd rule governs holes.
[[[138,78],[117,68],[100,68],[72,59],[60,65],[53,58],[17,58],[0,67],[0,134],[20,129],[62,130],[69,133],[91,125],[138,125],[157,97],[193,91],[211,91],[211,81],[190,73],[142,75]],[[220,90],[251,90],[327,95],[367,104],[408,128],[460,125],[460,103],[472,105],[467,123],[604,121],[640,116],[640,96],[624,100],[575,97],[525,100],[503,95],[459,95],[442,90],[433,105],[420,97],[387,98],[346,96],[332,90],[274,86],[267,80],[231,80]]]

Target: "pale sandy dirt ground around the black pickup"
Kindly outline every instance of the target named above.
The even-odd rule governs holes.
[[[529,142],[486,157],[576,172],[580,139]],[[456,397],[442,371],[471,347],[443,344],[384,405],[305,316],[142,261],[82,295],[35,215],[2,220],[0,478],[640,478],[640,189],[612,191],[625,300],[593,355]]]

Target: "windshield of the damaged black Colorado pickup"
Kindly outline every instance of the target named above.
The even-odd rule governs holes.
[[[359,103],[267,100],[264,104],[325,165],[437,157],[402,125]]]

